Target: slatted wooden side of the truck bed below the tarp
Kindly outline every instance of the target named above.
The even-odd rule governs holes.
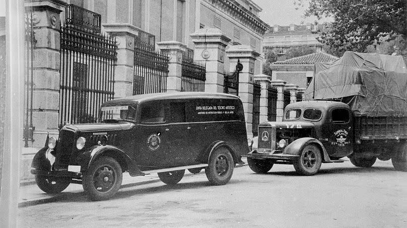
[[[356,140],[407,139],[407,117],[354,117]]]

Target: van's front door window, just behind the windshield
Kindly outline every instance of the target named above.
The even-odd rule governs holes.
[[[142,124],[165,123],[165,105],[163,102],[148,102],[143,105],[141,113]]]

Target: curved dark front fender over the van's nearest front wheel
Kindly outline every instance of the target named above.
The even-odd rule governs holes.
[[[144,175],[144,173],[126,153],[117,147],[110,145],[97,145],[89,148],[84,153],[79,155],[77,162],[81,166],[81,171],[87,170],[91,164],[101,156],[114,158],[120,164],[123,172],[127,170],[130,176]]]

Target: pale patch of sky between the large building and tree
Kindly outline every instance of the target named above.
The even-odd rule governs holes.
[[[270,26],[281,25],[287,26],[290,24],[300,25],[301,22],[304,24],[310,22],[313,23],[316,17],[303,18],[302,15],[306,8],[295,9],[294,0],[252,0],[260,8],[263,9],[259,16],[262,21]],[[324,21],[330,21],[327,19],[322,19],[318,22],[322,23]]]

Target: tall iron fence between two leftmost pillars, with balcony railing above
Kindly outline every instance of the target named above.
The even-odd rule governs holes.
[[[59,128],[92,123],[100,105],[113,98],[117,45],[100,33],[101,16],[75,5],[65,7],[60,31]]]

